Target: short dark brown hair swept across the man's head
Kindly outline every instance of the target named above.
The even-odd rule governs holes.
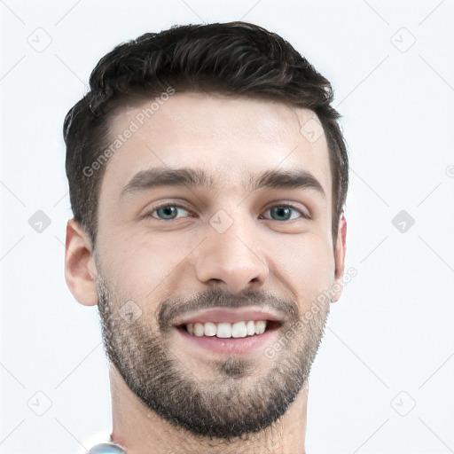
[[[338,124],[340,114],[331,106],[331,83],[281,36],[241,21],[146,33],[117,45],[93,69],[90,91],[67,113],[63,127],[74,219],[93,245],[106,165],[98,165],[96,172],[90,166],[112,142],[110,120],[129,103],[151,99],[168,87],[176,92],[265,98],[315,112],[329,148],[335,246],[347,198],[348,153]]]

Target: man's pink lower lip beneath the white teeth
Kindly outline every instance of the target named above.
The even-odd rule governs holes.
[[[215,353],[231,354],[244,354],[254,351],[263,346],[263,344],[270,342],[272,336],[277,329],[269,329],[262,334],[254,334],[253,336],[227,338],[223,339],[216,336],[194,336],[184,328],[176,328],[184,341],[191,342],[201,348],[206,348]]]

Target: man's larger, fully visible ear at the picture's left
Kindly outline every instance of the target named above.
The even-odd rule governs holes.
[[[84,306],[98,303],[98,270],[89,235],[75,219],[67,222],[65,278],[74,298]]]

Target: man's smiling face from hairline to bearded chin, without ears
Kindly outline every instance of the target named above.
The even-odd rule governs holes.
[[[163,418],[255,432],[308,379],[339,274],[325,136],[309,110],[269,101],[175,94],[141,124],[149,105],[112,122],[113,141],[138,128],[99,195],[106,352]]]

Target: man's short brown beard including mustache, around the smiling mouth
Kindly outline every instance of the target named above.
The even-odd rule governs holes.
[[[309,379],[329,314],[329,301],[325,301],[318,305],[314,317],[303,321],[294,301],[256,292],[234,295],[212,286],[190,299],[160,301],[157,323],[152,327],[145,312],[132,323],[134,314],[132,318],[124,316],[123,305],[129,304],[129,309],[140,313],[138,303],[125,305],[128,300],[108,286],[100,271],[97,287],[106,356],[131,391],[171,424],[226,442],[270,427],[286,413]],[[273,309],[283,322],[278,340],[286,345],[272,359],[263,355],[259,364],[256,356],[225,356],[210,362],[213,373],[203,377],[185,367],[190,358],[178,357],[172,350],[176,317],[195,309],[251,304]]]

